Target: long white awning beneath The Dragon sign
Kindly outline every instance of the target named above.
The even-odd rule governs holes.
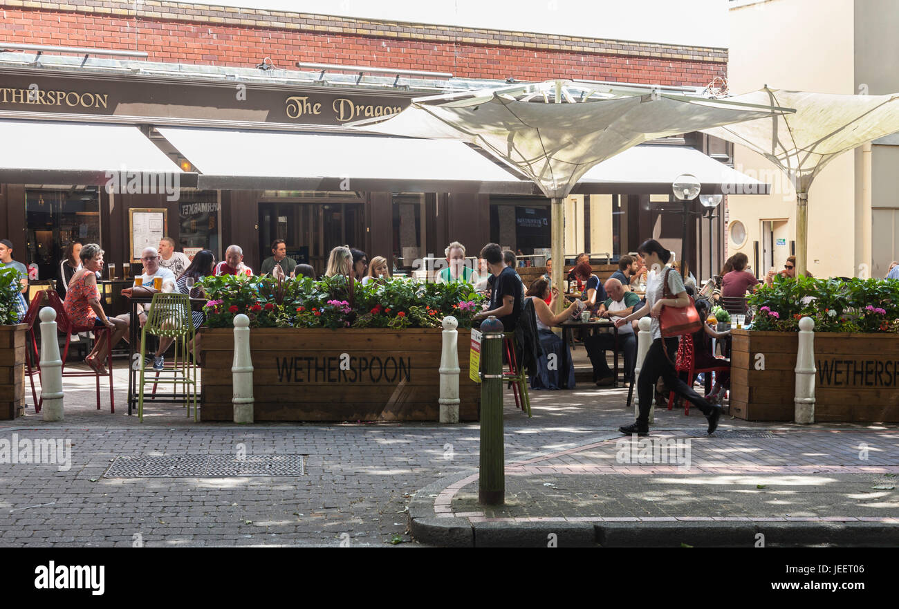
[[[264,190],[533,190],[462,142],[160,127],[196,167],[200,188]]]

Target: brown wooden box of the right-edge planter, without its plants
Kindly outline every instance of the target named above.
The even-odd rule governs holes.
[[[731,414],[747,420],[793,420],[797,332],[733,331]],[[765,356],[757,370],[756,354]],[[899,422],[899,337],[817,332],[814,420]]]

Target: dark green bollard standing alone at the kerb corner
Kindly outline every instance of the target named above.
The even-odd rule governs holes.
[[[505,503],[503,455],[503,322],[491,315],[481,323],[481,470],[477,502]]]

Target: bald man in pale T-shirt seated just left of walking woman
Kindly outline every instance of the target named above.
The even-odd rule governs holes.
[[[624,285],[616,278],[610,278],[605,284],[608,300],[600,305],[597,314],[606,317],[613,322],[619,317],[627,317],[634,312],[634,307],[640,303],[640,296],[625,290]],[[625,378],[630,378],[636,364],[636,335],[629,323],[619,328],[619,349],[624,351]],[[598,386],[615,383],[615,375],[606,362],[606,349],[615,349],[615,335],[611,332],[603,332],[588,336],[583,340],[584,349],[593,365],[593,378]]]

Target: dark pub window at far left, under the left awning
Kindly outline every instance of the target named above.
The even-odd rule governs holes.
[[[16,260],[38,265],[39,279],[57,278],[69,243],[100,243],[100,195],[96,186],[67,190],[25,189],[27,255]],[[107,259],[108,260],[108,259]]]

